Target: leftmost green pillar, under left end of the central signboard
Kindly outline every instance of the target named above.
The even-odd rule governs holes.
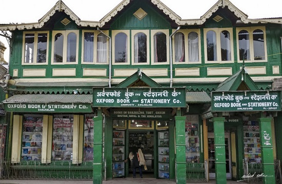
[[[103,116],[98,110],[94,121],[94,142],[93,142],[93,184],[102,184],[103,180]]]

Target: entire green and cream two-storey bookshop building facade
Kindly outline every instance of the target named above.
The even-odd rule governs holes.
[[[281,18],[220,0],[182,19],[158,0],[124,0],[84,21],[58,1],[0,30],[12,33],[4,177],[131,177],[133,147],[145,173],[177,183],[279,177]]]

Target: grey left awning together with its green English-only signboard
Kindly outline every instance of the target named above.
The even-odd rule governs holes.
[[[14,95],[3,101],[8,112],[92,112],[92,95]]]

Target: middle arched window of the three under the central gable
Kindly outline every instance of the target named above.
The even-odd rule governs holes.
[[[137,33],[134,35],[134,63],[147,62],[147,35]]]

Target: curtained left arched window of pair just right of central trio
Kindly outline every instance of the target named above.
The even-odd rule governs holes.
[[[185,62],[185,38],[183,33],[174,36],[175,62]]]

